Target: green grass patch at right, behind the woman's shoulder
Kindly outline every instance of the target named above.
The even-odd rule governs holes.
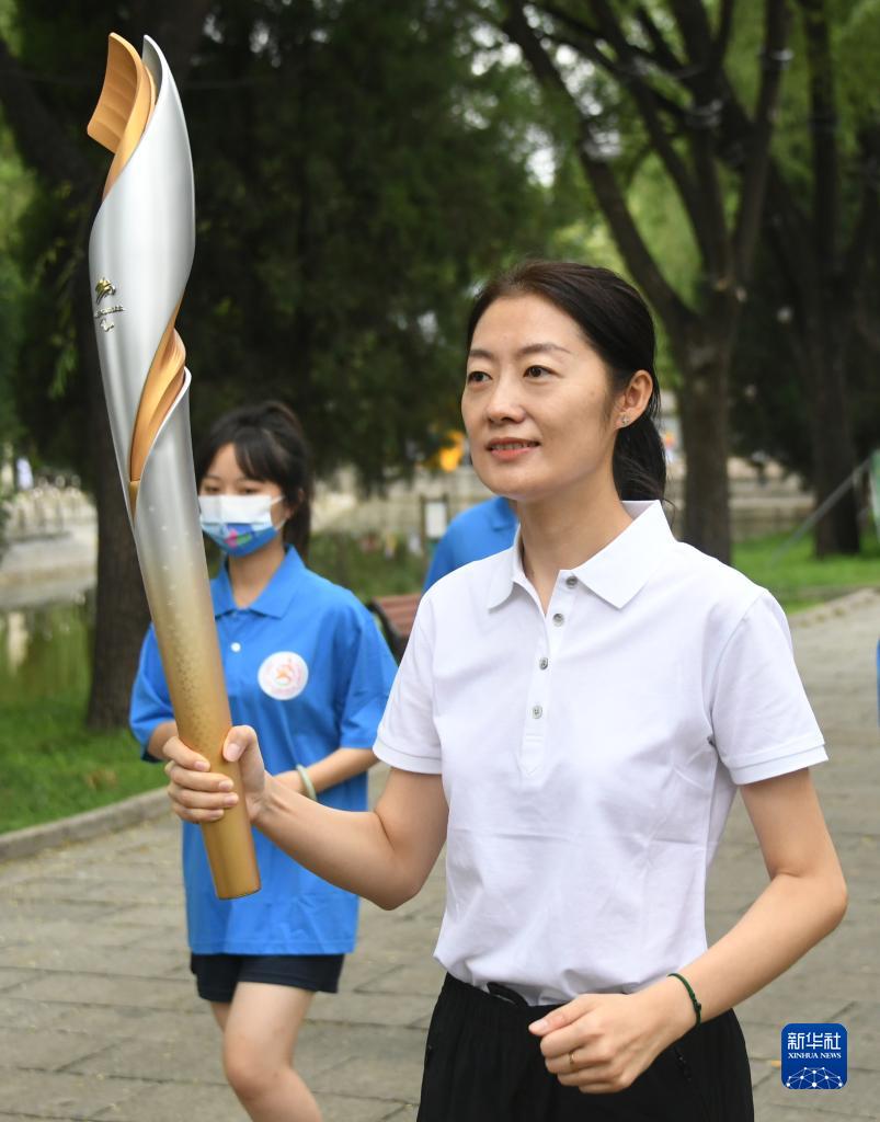
[[[755,583],[770,589],[786,611],[799,611],[859,588],[880,586],[880,541],[862,539],[856,557],[817,558],[804,537],[780,552],[787,534],[754,537],[734,545],[733,563]]]

